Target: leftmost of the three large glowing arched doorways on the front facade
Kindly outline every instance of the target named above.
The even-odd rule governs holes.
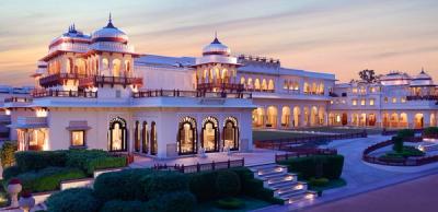
[[[196,154],[196,120],[192,117],[184,117],[178,123],[177,152],[180,155]]]

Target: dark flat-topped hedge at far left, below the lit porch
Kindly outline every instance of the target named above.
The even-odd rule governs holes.
[[[16,166],[22,172],[43,169],[49,166],[66,166],[68,151],[15,152]]]

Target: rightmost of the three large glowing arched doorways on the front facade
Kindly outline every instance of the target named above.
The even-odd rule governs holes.
[[[223,122],[223,148],[239,150],[239,126],[234,117],[226,118]]]

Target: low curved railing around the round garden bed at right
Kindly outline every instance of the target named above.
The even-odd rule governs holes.
[[[418,142],[419,139],[408,139],[405,142]],[[394,142],[392,140],[383,141],[380,143],[376,143],[373,145],[368,146],[362,152],[362,160],[368,163],[372,164],[380,164],[380,165],[388,165],[388,166],[419,166],[429,163],[438,162],[438,155],[434,156],[422,156],[422,157],[414,157],[414,158],[380,158],[377,156],[369,155],[371,152],[379,150],[381,148],[385,148],[392,145]]]

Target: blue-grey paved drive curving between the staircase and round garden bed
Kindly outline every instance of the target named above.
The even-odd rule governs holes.
[[[391,137],[369,136],[368,138],[337,140],[331,142],[327,148],[336,148],[339,154],[345,156],[344,172],[342,177],[347,186],[324,191],[323,197],[310,203],[285,207],[274,205],[257,211],[293,211],[307,207],[314,207],[322,203],[351,197],[370,190],[392,186],[403,181],[412,180],[422,176],[438,174],[438,164],[430,164],[419,167],[390,167],[368,164],[362,162],[362,151],[377,142],[390,139]]]

